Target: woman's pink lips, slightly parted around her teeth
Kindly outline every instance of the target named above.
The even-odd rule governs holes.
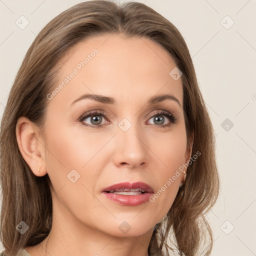
[[[135,189],[135,188],[140,188],[144,189],[145,192],[141,194],[136,194],[136,195],[124,195],[124,194],[115,194],[115,193],[109,193],[107,191],[114,190],[114,189],[122,189],[122,188],[127,188],[127,189]],[[110,200],[121,204],[121,205],[126,205],[126,206],[136,206],[141,203],[145,203],[149,200],[149,197],[153,195],[153,189],[151,186],[144,182],[123,182],[123,183],[118,183],[114,184],[111,186],[108,186],[104,189],[101,190],[101,192]]]

